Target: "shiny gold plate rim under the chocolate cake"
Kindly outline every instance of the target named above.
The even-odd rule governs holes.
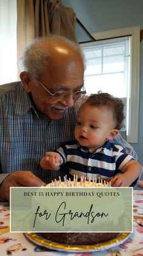
[[[61,244],[55,243],[53,241],[47,240],[46,238],[42,237],[38,233],[25,233],[25,237],[28,240],[32,241],[38,246],[44,246],[50,250],[56,251],[63,251],[63,252],[95,252],[95,251],[102,251],[107,250],[110,247],[118,246],[121,243],[124,243],[125,240],[130,236],[131,233],[120,233],[118,237],[113,238],[109,241],[99,244],[91,244],[91,245],[71,245],[71,244]]]

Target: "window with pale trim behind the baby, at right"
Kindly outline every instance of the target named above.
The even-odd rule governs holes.
[[[122,130],[128,142],[138,142],[139,27],[93,36],[100,40],[81,44],[87,66],[87,94],[102,91],[121,98],[125,114]]]

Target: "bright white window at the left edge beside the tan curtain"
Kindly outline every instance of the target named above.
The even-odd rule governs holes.
[[[0,0],[0,85],[17,80],[16,0]]]

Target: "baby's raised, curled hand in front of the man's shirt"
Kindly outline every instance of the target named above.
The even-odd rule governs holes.
[[[62,157],[56,152],[46,152],[45,156],[40,161],[40,166],[44,170],[57,171],[62,164]]]

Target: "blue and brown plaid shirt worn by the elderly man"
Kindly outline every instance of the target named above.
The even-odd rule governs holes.
[[[83,100],[68,108],[64,117],[51,120],[35,109],[21,81],[0,86],[0,183],[16,170],[30,170],[44,182],[50,182],[64,171],[45,171],[39,166],[46,151],[53,151],[63,142],[74,139],[76,113]],[[136,159],[130,145],[116,136],[114,144],[127,148]],[[66,171],[65,171],[66,172]]]

